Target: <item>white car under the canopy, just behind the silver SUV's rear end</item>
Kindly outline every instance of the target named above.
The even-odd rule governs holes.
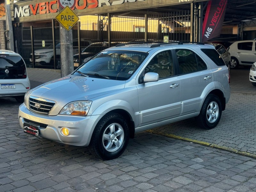
[[[239,65],[251,66],[256,62],[256,40],[236,41],[228,48],[231,54],[230,68],[238,68]]]

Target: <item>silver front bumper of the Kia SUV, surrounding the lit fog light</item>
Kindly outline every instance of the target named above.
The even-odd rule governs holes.
[[[92,137],[93,130],[98,120],[103,115],[95,116],[45,116],[29,111],[23,104],[19,107],[19,122],[23,128],[25,119],[28,119],[34,124],[46,124],[46,127],[39,126],[39,137],[49,140],[57,141],[60,143],[75,145],[75,146],[88,146]],[[36,122],[36,123],[35,123]],[[29,122],[27,122],[29,123]],[[69,135],[64,136],[61,134],[61,128],[66,127],[69,130]]]

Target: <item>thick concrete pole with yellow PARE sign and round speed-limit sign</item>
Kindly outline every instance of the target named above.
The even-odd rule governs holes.
[[[70,9],[75,6],[76,0],[58,0],[58,2],[60,13],[56,16],[56,20],[60,22],[60,62],[61,77],[63,77],[74,71],[72,27],[79,18]]]

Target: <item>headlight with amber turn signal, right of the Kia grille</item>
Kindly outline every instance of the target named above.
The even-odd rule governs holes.
[[[91,104],[92,101],[74,101],[62,108],[59,114],[86,116]]]

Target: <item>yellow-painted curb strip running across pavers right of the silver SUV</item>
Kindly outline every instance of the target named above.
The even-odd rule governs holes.
[[[203,146],[206,146],[206,147],[212,147],[212,148],[228,151],[230,153],[235,153],[235,154],[238,154],[238,155],[242,155],[242,156],[246,156],[246,157],[256,159],[255,154],[248,153],[248,152],[245,152],[245,151],[239,151],[237,149],[233,149],[233,148],[229,148],[229,147],[225,147],[225,146],[216,145],[216,144],[213,144],[213,143],[208,143],[208,142],[205,142],[205,141],[193,140],[193,139],[189,139],[189,138],[180,137],[180,136],[174,135],[174,134],[168,134],[168,133],[162,133],[162,132],[154,131],[154,130],[151,130],[151,129],[147,130],[146,132],[154,133],[154,134],[157,134],[157,135],[163,135],[165,137],[178,139],[178,140],[182,140],[182,141],[192,142],[192,143],[196,143],[196,144],[203,145]]]

